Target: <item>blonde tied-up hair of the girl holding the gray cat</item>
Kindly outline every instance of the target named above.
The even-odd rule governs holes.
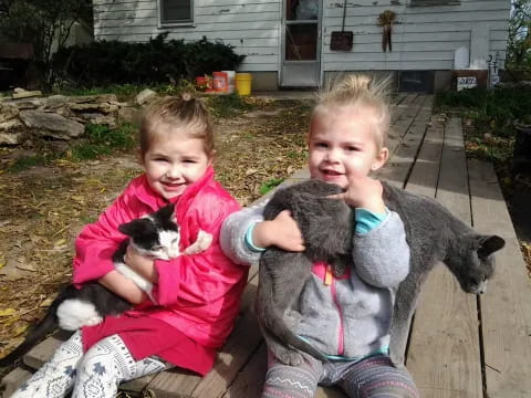
[[[376,127],[376,143],[383,148],[387,140],[391,124],[388,98],[389,78],[375,80],[365,74],[350,74],[342,80],[332,81],[317,94],[317,104],[313,108],[311,121],[335,107],[353,106],[373,111]]]

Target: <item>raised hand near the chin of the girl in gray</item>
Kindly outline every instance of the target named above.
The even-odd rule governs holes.
[[[374,213],[385,212],[385,203],[382,195],[382,182],[368,176],[348,177],[348,187],[343,193],[330,196],[334,199],[343,199],[348,206],[364,208]]]

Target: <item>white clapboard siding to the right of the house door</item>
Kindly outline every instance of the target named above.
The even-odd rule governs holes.
[[[393,52],[382,51],[377,17],[396,13]],[[509,0],[461,0],[456,6],[409,7],[408,0],[347,1],[345,30],[354,32],[352,51],[330,50],[332,31],[341,30],[343,1],[324,0],[323,71],[451,70],[460,46],[470,50],[470,62],[499,53],[506,57]]]

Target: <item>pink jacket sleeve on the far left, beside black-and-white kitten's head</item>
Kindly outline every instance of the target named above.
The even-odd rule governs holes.
[[[118,226],[134,217],[126,211],[128,199],[122,195],[108,207],[98,220],[85,226],[75,240],[75,259],[72,281],[80,285],[102,277],[114,270],[113,254],[126,237]]]

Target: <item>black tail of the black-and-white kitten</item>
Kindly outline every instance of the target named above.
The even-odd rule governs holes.
[[[65,295],[69,294],[70,289],[75,289],[72,285],[63,290],[59,296],[52,302],[44,317],[28,333],[25,339],[11,353],[0,359],[0,367],[6,367],[14,363],[18,358],[28,353],[35,344],[42,341],[51,332],[58,328],[56,308],[61,302],[64,301]]]

